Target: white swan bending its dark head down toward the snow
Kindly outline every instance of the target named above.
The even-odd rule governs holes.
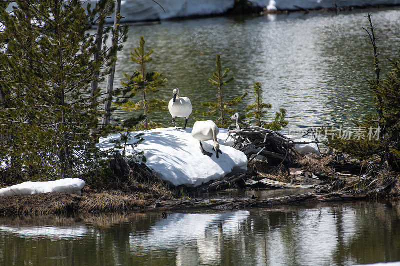
[[[222,152],[219,150],[219,143],[216,139],[216,135],[218,133],[218,127],[211,120],[196,121],[193,125],[193,129],[191,130],[191,135],[193,136],[193,138],[197,139],[200,142],[200,147],[204,155],[208,155],[209,157],[211,157],[212,153],[206,152],[204,150],[201,141],[211,139],[214,141],[214,148],[212,149],[215,151],[216,158],[218,158],[218,153],[222,154]]]

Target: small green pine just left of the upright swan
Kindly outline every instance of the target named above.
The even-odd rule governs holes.
[[[167,105],[164,100],[159,100],[155,97],[150,100],[146,99],[148,93],[156,92],[157,88],[164,86],[166,81],[166,78],[163,78],[161,73],[146,72],[146,64],[151,61],[152,58],[150,55],[153,51],[153,49],[150,49],[148,52],[144,51],[144,37],[140,36],[139,46],[137,46],[133,52],[130,52],[130,60],[139,65],[139,70],[134,70],[132,75],[123,73],[128,81],[121,81],[121,84],[125,88],[128,88],[128,90],[124,91],[126,97],[132,98],[140,94],[142,99],[138,102],[132,102],[130,100],[122,102],[119,103],[119,106],[125,111],[143,110],[144,120],[140,128],[144,128],[145,130],[158,126],[158,124],[149,119],[148,114],[154,111],[165,111],[165,106]]]

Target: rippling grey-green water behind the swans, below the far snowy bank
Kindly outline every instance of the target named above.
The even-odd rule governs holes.
[[[183,21],[162,21],[155,25],[133,26],[124,51],[118,56],[115,86],[121,86],[122,73],[132,73],[136,65],[129,52],[144,35],[154,48],[148,71],[164,73],[166,86],[156,95],[169,101],[172,89],[191,99],[194,110],[201,102],[215,100],[208,82],[215,71],[215,55],[221,53],[222,67],[235,80],[226,85],[231,99],[244,91],[252,92],[254,81],[264,88],[264,101],[287,109],[289,126],[350,126],[351,119],[362,119],[373,112],[367,79],[374,76],[371,44],[362,26],[364,15],[373,12],[382,75],[388,70],[386,58],[396,58],[400,48],[400,9],[359,9],[353,12],[293,12],[288,15],[257,17],[212,17]],[[249,95],[238,112],[251,102]],[[202,109],[203,110],[203,109]],[[119,112],[118,116],[127,114]],[[166,126],[168,111],[151,118]],[[184,119],[177,119],[184,121]],[[189,119],[189,126],[193,120]]]

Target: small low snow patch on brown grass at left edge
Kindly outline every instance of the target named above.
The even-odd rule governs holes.
[[[0,189],[0,196],[31,195],[47,192],[64,192],[80,195],[84,181],[79,178],[63,178],[54,181],[23,182],[18,185]]]

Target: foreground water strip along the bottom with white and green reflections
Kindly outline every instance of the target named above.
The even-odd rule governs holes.
[[[167,219],[160,214],[2,218],[0,265],[392,262],[400,261],[398,221],[400,202],[175,213]]]

